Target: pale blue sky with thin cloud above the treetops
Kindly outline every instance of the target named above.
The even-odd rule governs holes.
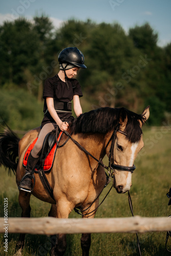
[[[0,0],[0,25],[23,16],[47,15],[55,28],[75,18],[119,23],[127,33],[145,22],[158,33],[158,45],[171,42],[171,0]]]

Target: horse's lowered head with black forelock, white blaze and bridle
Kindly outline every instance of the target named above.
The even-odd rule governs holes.
[[[149,107],[144,110],[142,115],[134,114],[133,112],[124,113],[124,115],[121,113],[120,125],[116,131],[114,146],[111,151],[113,185],[117,193],[125,193],[132,186],[133,170],[131,172],[129,167],[134,169],[134,160],[144,146],[141,127],[149,117]],[[106,152],[108,157],[110,157],[109,148],[110,145],[108,152]]]

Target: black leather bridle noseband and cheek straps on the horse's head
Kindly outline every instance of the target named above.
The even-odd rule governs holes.
[[[113,170],[113,173],[111,174],[111,176],[114,176],[114,169],[117,169],[117,170],[123,170],[123,171],[126,171],[126,172],[131,172],[133,173],[136,166],[133,164],[133,166],[124,166],[124,165],[119,165],[119,164],[114,164],[114,163],[111,163],[111,160],[112,160],[112,155],[114,153],[114,144],[115,144],[115,139],[116,139],[116,133],[119,132],[123,135],[127,135],[126,133],[124,133],[123,131],[119,130],[119,126],[120,124],[118,124],[114,130],[114,133],[112,134],[110,140],[108,141],[108,144],[106,145],[106,147],[109,145],[110,141],[112,140],[112,144],[111,144],[111,148],[110,148],[110,156],[109,156],[109,168],[110,168],[110,174],[111,174],[111,169]],[[105,147],[105,148],[106,148]]]

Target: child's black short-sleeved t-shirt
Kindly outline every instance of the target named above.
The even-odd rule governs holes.
[[[73,100],[74,95],[78,95],[79,97],[82,97],[82,91],[81,86],[77,79],[68,79],[69,84],[69,90],[67,89],[66,82],[63,82],[58,75],[55,75],[54,77],[48,78],[45,81],[44,85],[44,92],[43,92],[43,98],[44,101],[44,113],[47,111],[47,103],[46,103],[46,97],[53,98],[54,101],[59,102],[70,102]],[[62,120],[63,118],[68,118],[67,120],[71,119],[72,112],[57,112],[59,118]],[[55,123],[54,119],[51,117],[49,112],[47,112],[44,116],[44,119],[42,120],[41,127],[44,126],[46,123],[53,122]]]

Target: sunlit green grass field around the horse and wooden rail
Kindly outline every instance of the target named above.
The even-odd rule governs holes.
[[[134,215],[142,217],[167,217],[171,214],[166,193],[171,186],[171,127],[144,127],[143,140],[145,147],[138,156],[136,170],[132,176],[133,186],[130,194],[132,197]],[[106,161],[106,159],[105,159]],[[4,198],[8,198],[9,217],[20,217],[21,210],[18,204],[18,190],[15,176],[8,176],[5,169],[1,171],[0,205],[1,217],[4,217]],[[108,192],[111,184],[107,186],[100,199]],[[50,205],[31,198],[31,217],[46,217]],[[113,188],[109,196],[97,211],[96,218],[131,217],[127,193],[119,195]],[[74,211],[70,218],[80,218]],[[105,225],[105,222],[103,223]],[[4,252],[4,234],[0,235],[0,254],[13,255],[18,234],[8,234],[8,253]],[[68,235],[67,256],[81,255],[81,234]],[[166,232],[148,232],[139,234],[140,246],[143,256],[170,255],[165,250]],[[26,246],[22,255],[50,255],[50,238],[47,236],[26,236]],[[171,238],[170,238],[171,241]],[[168,248],[171,249],[171,242]],[[169,247],[170,245],[170,247]],[[133,233],[97,233],[92,234],[91,256],[127,256],[139,255],[137,250],[136,235]]]

